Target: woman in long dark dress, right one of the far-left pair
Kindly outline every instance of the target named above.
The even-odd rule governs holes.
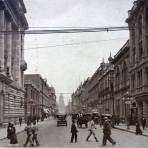
[[[10,144],[18,144],[16,129],[13,123],[11,123],[11,129],[10,129]]]

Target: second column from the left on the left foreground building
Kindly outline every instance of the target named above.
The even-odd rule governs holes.
[[[12,31],[12,24],[10,21],[6,24],[7,31]],[[12,33],[7,34],[6,40],[6,47],[7,47],[7,70],[6,74],[11,78],[11,62],[12,62]]]

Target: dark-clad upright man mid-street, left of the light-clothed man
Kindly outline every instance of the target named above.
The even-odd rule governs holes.
[[[72,125],[71,125],[71,143],[73,143],[73,140],[75,139],[75,142],[77,142],[77,126],[75,123],[75,120],[72,120]]]

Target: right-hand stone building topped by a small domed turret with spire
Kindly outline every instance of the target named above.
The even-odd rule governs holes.
[[[114,107],[114,66],[112,65],[113,58],[108,58],[109,63],[106,63],[105,69],[98,80],[98,109],[100,114],[115,114]],[[102,66],[102,65],[101,65]]]

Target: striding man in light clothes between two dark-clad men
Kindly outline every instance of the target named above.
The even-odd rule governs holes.
[[[88,122],[88,130],[89,130],[89,135],[87,136],[86,141],[89,141],[90,136],[93,135],[96,142],[98,142],[98,139],[95,134],[96,126],[93,121],[93,118],[91,118],[91,120]]]

